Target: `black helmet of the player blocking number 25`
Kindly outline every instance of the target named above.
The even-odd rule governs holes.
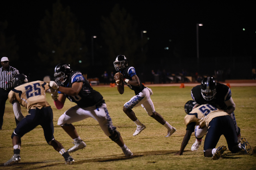
[[[54,68],[55,82],[59,86],[66,86],[68,84],[68,77],[73,72],[69,64],[61,63]]]

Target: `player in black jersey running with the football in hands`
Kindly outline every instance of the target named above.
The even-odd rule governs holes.
[[[124,113],[126,113],[126,115],[137,125],[136,131],[133,136],[138,135],[143,129],[146,128],[145,125],[140,123],[134,111],[132,111],[132,108],[138,106],[142,106],[149,116],[156,119],[156,121],[158,121],[168,129],[167,135],[165,137],[171,136],[176,131],[176,129],[172,127],[167,121],[164,120],[164,118],[159,113],[155,111],[154,104],[150,98],[150,96],[153,94],[152,90],[145,87],[141,83],[140,78],[138,78],[135,72],[135,68],[132,66],[128,66],[128,61],[124,55],[118,55],[113,64],[115,69],[121,73],[117,73],[118,77],[120,77],[120,84],[117,83],[118,92],[120,94],[124,93],[124,84],[135,92],[135,96],[133,96],[128,102],[126,102],[123,107]]]

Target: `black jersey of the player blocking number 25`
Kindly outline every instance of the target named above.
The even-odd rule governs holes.
[[[68,85],[66,87],[72,87],[74,82],[83,82],[83,86],[77,96],[64,94],[71,102],[75,102],[79,107],[90,107],[96,104],[105,103],[103,96],[96,90],[93,90],[90,83],[84,76],[82,76],[81,72],[73,72],[69,76]]]

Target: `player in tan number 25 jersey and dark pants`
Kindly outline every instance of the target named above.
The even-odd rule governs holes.
[[[10,91],[8,98],[13,106],[15,117],[20,121],[12,133],[12,144],[14,155],[4,163],[9,166],[15,162],[20,162],[21,137],[41,125],[44,130],[44,137],[49,145],[60,152],[65,158],[66,164],[72,164],[74,159],[64,149],[62,144],[54,139],[53,113],[52,108],[46,101],[45,93],[55,92],[49,84],[42,81],[29,82],[24,74],[14,77],[14,89]],[[20,105],[26,107],[28,115],[24,117]]]

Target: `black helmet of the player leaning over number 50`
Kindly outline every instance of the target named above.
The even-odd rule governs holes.
[[[213,77],[206,77],[201,83],[201,94],[206,101],[212,100],[216,95],[216,80]]]

